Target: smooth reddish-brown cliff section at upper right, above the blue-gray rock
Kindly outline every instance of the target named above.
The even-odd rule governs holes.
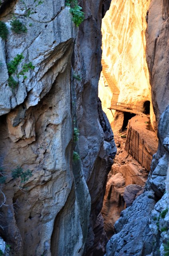
[[[147,64],[154,111],[159,118],[169,104],[168,38],[169,38],[168,1],[153,1],[147,14]]]

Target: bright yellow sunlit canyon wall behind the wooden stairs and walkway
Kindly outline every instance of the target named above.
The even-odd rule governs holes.
[[[151,102],[149,72],[145,59],[146,12],[149,0],[112,0],[110,10],[102,20],[102,66],[99,97],[110,123],[110,98],[113,101],[143,106]],[[105,77],[106,76],[106,77]],[[105,85],[108,85],[105,86]],[[151,124],[155,126],[152,104]]]

